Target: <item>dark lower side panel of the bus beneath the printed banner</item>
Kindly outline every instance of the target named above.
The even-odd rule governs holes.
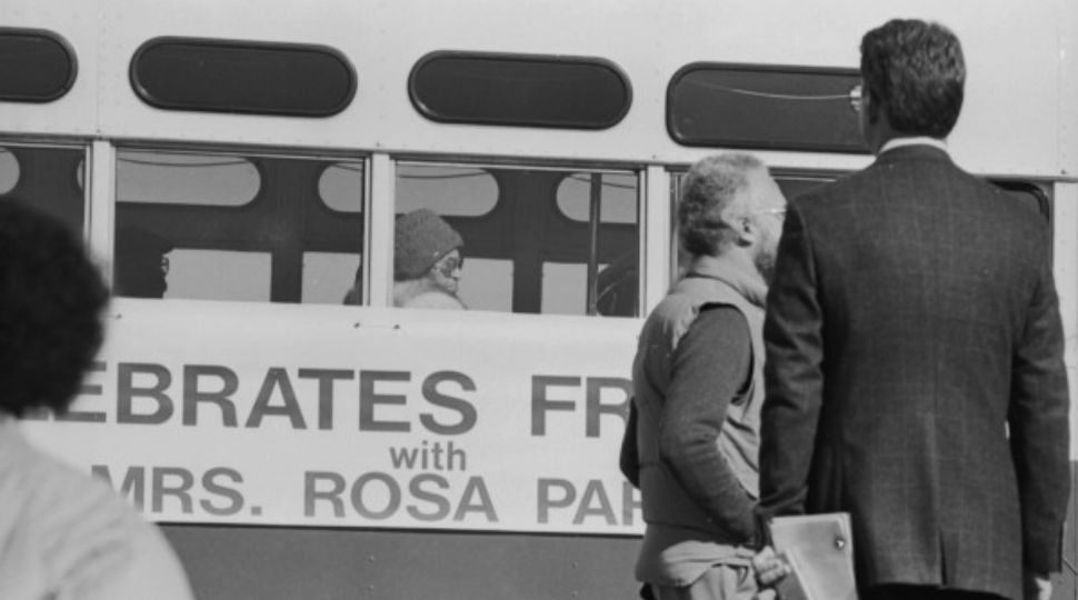
[[[162,526],[200,600],[631,599],[631,537]]]

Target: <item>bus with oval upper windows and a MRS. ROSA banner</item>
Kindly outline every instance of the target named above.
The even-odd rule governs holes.
[[[0,0],[0,201],[114,292],[71,412],[23,428],[203,599],[635,598],[617,458],[680,177],[869,164],[858,44],[901,17],[962,41],[956,161],[1051,223],[1074,382],[1075,2]],[[392,306],[420,208],[468,310]]]

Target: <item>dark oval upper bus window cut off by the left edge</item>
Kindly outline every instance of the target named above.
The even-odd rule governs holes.
[[[74,52],[60,36],[0,27],[0,100],[50,102],[74,84]]]

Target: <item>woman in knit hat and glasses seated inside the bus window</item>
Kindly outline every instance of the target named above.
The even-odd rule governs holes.
[[[463,244],[460,233],[430,209],[398,217],[393,242],[393,306],[465,308],[457,297]]]

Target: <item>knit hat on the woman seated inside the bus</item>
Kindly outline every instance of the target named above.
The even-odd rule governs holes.
[[[393,240],[393,279],[416,279],[430,270],[441,257],[465,244],[460,233],[430,209],[419,209],[397,218]]]

